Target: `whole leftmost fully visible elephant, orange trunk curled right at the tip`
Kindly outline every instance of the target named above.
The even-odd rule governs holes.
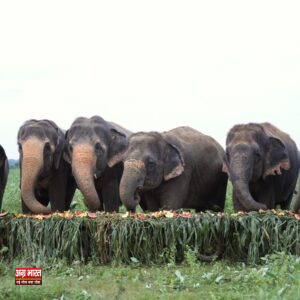
[[[64,132],[50,120],[28,120],[19,129],[20,188],[24,213],[68,210],[76,190],[63,159]],[[51,209],[47,205],[51,204]]]

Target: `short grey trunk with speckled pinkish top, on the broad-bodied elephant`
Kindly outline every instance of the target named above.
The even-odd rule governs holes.
[[[130,159],[124,162],[123,176],[120,182],[120,198],[128,210],[134,210],[140,202],[139,191],[146,176],[143,161]]]

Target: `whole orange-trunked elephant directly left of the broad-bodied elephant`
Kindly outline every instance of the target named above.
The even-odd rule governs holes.
[[[126,149],[130,134],[100,116],[79,117],[67,131],[64,157],[89,210],[119,210],[123,165],[114,162]]]

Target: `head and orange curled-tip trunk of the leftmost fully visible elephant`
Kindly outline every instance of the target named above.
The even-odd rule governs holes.
[[[29,120],[18,132],[21,168],[21,195],[34,213],[50,213],[35,198],[35,186],[60,165],[64,149],[64,133],[49,120]]]

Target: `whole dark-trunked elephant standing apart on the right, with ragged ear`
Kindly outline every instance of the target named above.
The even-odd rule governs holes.
[[[299,173],[298,149],[270,123],[235,125],[227,135],[223,170],[232,181],[235,211],[287,209]]]

